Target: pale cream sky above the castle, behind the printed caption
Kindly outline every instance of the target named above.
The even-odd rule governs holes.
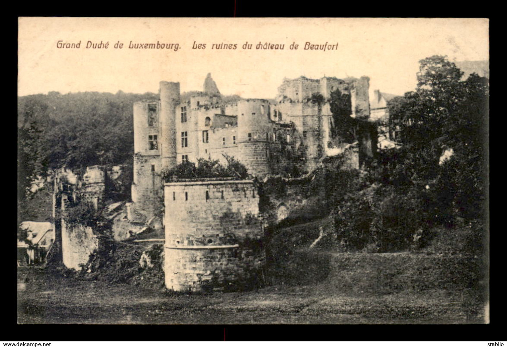
[[[371,90],[403,95],[416,85],[420,59],[488,60],[487,19],[343,18],[20,18],[18,95],[98,91],[157,92],[159,81],[202,90],[207,73],[222,94],[274,98],[284,77],[369,76]],[[58,49],[57,42],[80,49]],[[87,42],[107,49],[86,49]],[[120,41],[123,49],[115,49]],[[129,49],[178,43],[179,49]],[[192,49],[206,44],[206,49]],[[248,42],[251,50],[243,50]],[[297,50],[289,45],[299,44]],[[311,44],[334,50],[304,50]],[[237,44],[236,50],[211,49]],[[256,50],[262,43],[284,50]]]

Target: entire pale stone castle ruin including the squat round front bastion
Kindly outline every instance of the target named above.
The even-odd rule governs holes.
[[[285,79],[276,100],[226,103],[210,74],[203,92],[182,99],[179,83],[160,82],[160,100],[134,103],[134,175],[129,220],[163,212],[165,283],[175,291],[246,284],[265,263],[264,227],[253,181],[183,180],[162,172],[204,158],[232,156],[253,177],[305,173],[330,148],[331,93],[350,95],[352,117],[368,119],[369,78]],[[357,157],[357,151],[354,152]],[[352,160],[355,166],[359,160]],[[284,215],[280,204],[279,215]]]

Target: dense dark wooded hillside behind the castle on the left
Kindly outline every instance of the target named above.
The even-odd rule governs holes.
[[[182,101],[197,91],[182,93]],[[18,97],[18,204],[31,182],[66,167],[83,173],[90,165],[131,165],[134,151],[132,105],[159,99],[155,93],[80,92]],[[225,95],[235,101],[238,95]]]

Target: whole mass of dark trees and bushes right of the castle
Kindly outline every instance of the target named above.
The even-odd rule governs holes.
[[[416,90],[388,102],[402,146],[381,151],[364,184],[335,199],[345,249],[407,250],[424,245],[434,225],[484,218],[489,82],[475,74],[460,81],[442,56],[420,63]]]

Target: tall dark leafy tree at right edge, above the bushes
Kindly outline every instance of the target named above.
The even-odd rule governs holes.
[[[484,206],[489,83],[463,73],[444,56],[420,61],[417,88],[388,102],[390,124],[402,129],[394,151],[408,184],[433,187],[440,215],[480,218]],[[444,151],[452,157],[442,162]],[[398,178],[399,175],[398,175]],[[402,180],[403,181],[403,180]]]

